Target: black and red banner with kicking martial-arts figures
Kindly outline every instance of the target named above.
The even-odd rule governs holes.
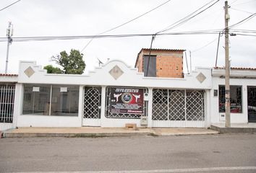
[[[111,87],[111,109],[114,113],[141,114],[144,89]]]

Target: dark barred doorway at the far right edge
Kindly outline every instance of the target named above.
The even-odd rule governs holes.
[[[256,123],[256,86],[247,86],[248,122]]]

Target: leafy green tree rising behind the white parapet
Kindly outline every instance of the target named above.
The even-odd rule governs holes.
[[[85,61],[82,60],[82,56],[79,50],[72,49],[69,55],[64,50],[60,55],[52,56],[51,60],[63,68],[61,74],[82,74],[85,70]]]

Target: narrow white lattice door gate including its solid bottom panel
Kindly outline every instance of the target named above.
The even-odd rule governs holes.
[[[82,125],[101,126],[101,87],[85,86]]]

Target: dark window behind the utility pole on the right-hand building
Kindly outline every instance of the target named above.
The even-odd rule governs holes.
[[[218,87],[218,110],[225,112],[225,86]],[[242,113],[242,86],[230,86],[230,112]]]

